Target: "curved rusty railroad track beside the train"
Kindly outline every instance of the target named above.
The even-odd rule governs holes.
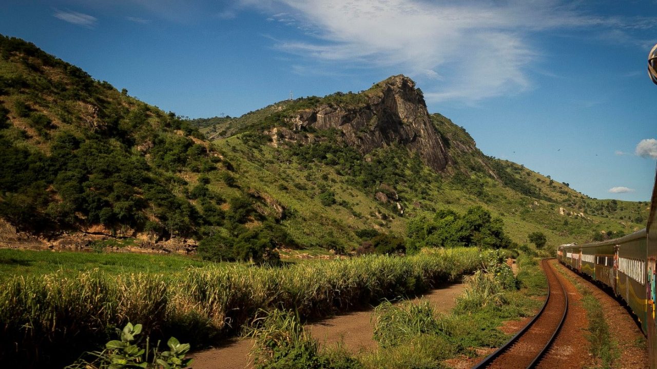
[[[507,343],[472,369],[535,368],[547,353],[568,313],[568,293],[548,260],[541,261],[548,286],[541,311]]]

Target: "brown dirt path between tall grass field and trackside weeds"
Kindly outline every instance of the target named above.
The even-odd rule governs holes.
[[[436,311],[447,312],[456,305],[456,297],[463,292],[463,288],[463,284],[445,285],[413,301],[419,303],[422,299],[428,299]],[[372,309],[356,311],[308,324],[306,329],[313,337],[319,339],[322,345],[342,343],[343,347],[351,353],[371,351],[376,348],[371,325],[372,316]],[[253,344],[251,339],[231,339],[220,347],[194,353],[191,355],[194,358],[193,367],[194,369],[252,368],[253,363],[248,353]]]

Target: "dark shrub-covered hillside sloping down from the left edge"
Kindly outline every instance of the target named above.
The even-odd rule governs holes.
[[[0,216],[18,230],[154,244],[265,218],[188,121],[20,39],[0,37],[0,56]]]

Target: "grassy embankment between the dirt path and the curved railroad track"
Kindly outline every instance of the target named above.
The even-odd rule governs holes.
[[[530,257],[520,258],[514,278],[509,267],[490,263],[466,278],[466,291],[449,314],[437,314],[428,302],[382,303],[376,308],[374,339],[379,349],[353,356],[342,347],[319,349],[294,313],[274,311],[252,332],[259,368],[445,368],[444,360],[474,357],[477,347],[497,347],[508,335],[505,320],[534,314],[547,283]]]

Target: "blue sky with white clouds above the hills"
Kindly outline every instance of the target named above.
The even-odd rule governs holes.
[[[191,118],[405,74],[487,155],[596,198],[652,192],[655,0],[5,0],[0,33]]]

